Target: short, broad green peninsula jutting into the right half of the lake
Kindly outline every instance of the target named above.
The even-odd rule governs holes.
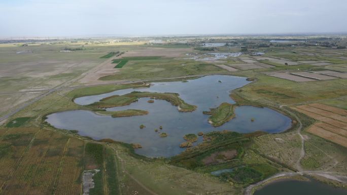
[[[204,114],[210,114],[209,123],[214,127],[219,127],[235,117],[235,106],[229,103],[222,103],[217,108],[211,108],[211,111],[203,111]]]

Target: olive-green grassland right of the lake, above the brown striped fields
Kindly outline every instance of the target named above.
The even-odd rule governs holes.
[[[347,95],[343,79],[293,82],[265,74],[248,76],[255,76],[258,81],[238,89],[236,93],[249,101],[261,101],[264,104],[293,104]]]

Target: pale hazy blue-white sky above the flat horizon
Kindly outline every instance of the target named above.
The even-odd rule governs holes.
[[[347,32],[347,0],[0,0],[0,36]]]

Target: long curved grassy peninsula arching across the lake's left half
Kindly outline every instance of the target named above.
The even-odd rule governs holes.
[[[184,102],[177,93],[152,93],[152,92],[138,92],[134,91],[125,95],[114,95],[101,99],[99,102],[90,104],[91,106],[98,108],[110,108],[115,106],[129,105],[132,102],[143,97],[155,97],[156,99],[162,99],[170,102],[172,105],[178,106],[180,112],[190,112],[196,109],[195,105]]]

